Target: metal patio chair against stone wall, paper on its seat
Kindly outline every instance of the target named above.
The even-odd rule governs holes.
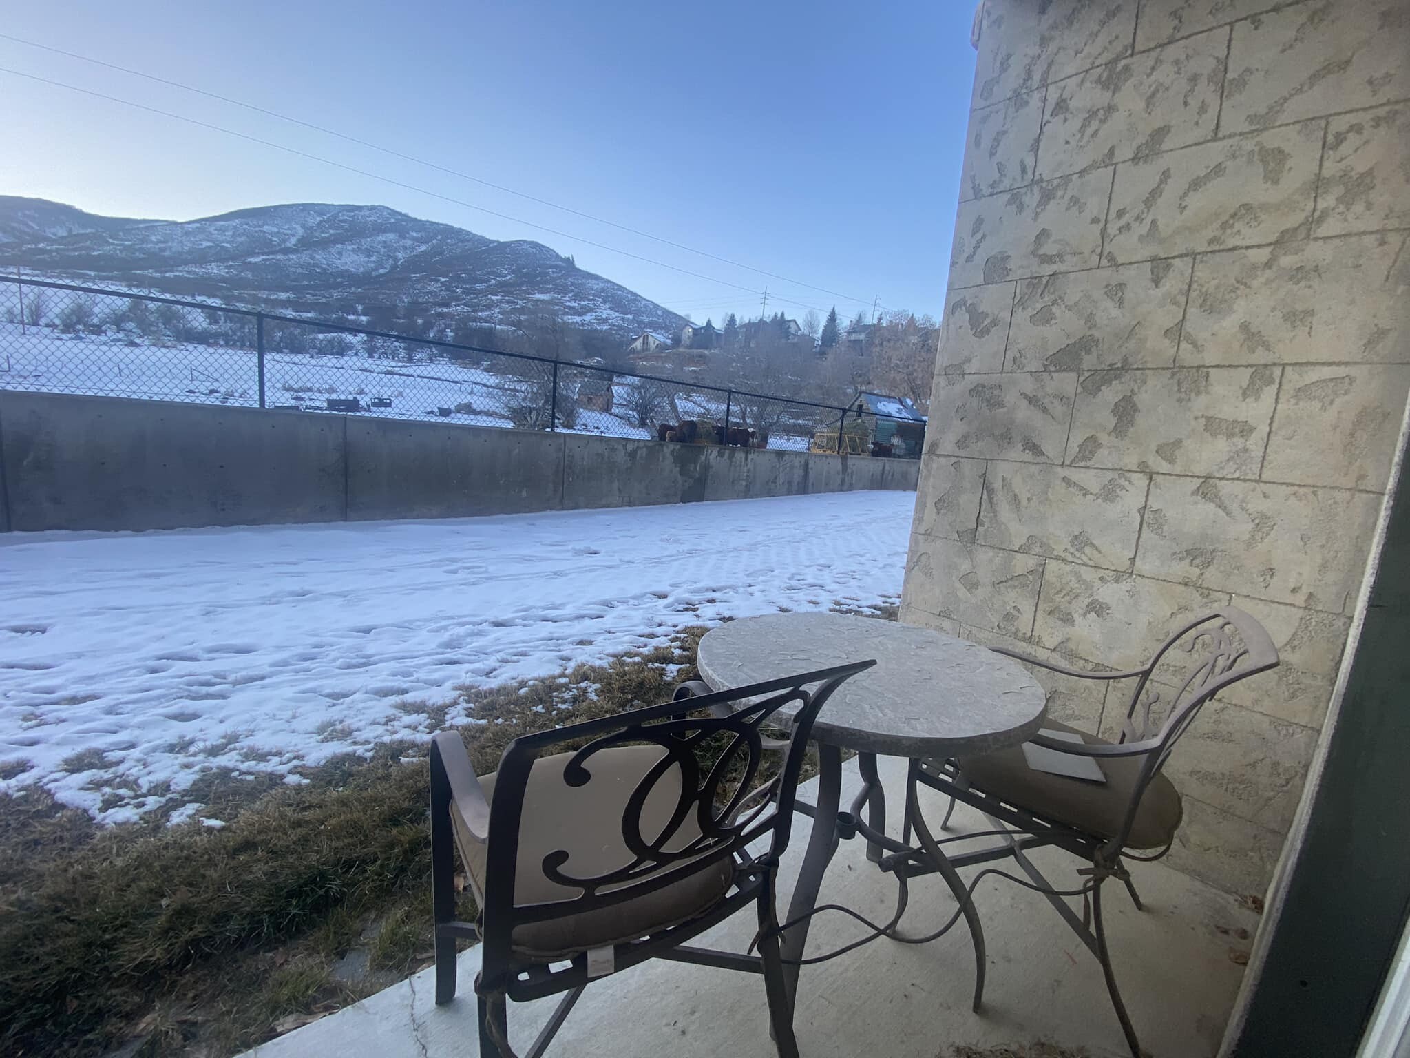
[[[1115,743],[1055,721],[1045,722],[1045,729],[1080,741],[1048,735],[1031,739],[1031,745],[1097,762],[1105,782],[1031,767],[1022,748],[953,760],[916,760],[911,763],[907,790],[905,839],[909,841],[914,824],[922,848],[932,855],[939,852],[916,808],[916,783],[950,796],[942,828],[948,828],[955,801],[960,800],[983,811],[997,829],[1005,831],[1001,845],[950,856],[950,863],[959,868],[1012,855],[1034,887],[1048,897],[1101,962],[1121,1031],[1131,1054],[1139,1058],[1139,1042],[1121,1000],[1107,948],[1101,886],[1107,879],[1120,879],[1136,908],[1144,910],[1125,861],[1149,862],[1166,855],[1175,844],[1183,814],[1180,794],[1160,769],[1200,708],[1230,684],[1276,667],[1277,649],[1258,621],[1234,607],[1222,607],[1190,621],[1166,639],[1146,664],[1128,671],[1079,671],[1004,647],[994,649],[1026,664],[1080,680],[1135,680]],[[1182,653],[1190,655],[1189,660]],[[1077,872],[1086,879],[1080,886],[1084,890],[1081,918],[1024,855],[1025,849],[1042,845],[1055,845],[1091,863]],[[1155,852],[1138,855],[1149,849]],[[908,877],[928,873],[924,865],[898,866]],[[976,937],[976,951],[980,955],[974,992],[977,1010],[984,986],[981,935]]]

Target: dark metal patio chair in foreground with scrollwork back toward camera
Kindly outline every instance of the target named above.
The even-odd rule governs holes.
[[[436,1002],[455,996],[455,940],[478,937],[482,1058],[513,1057],[506,1000],[565,993],[526,1052],[537,1058],[591,980],[650,958],[763,975],[778,1054],[798,1054],[774,876],[814,718],[847,677],[873,664],[523,735],[505,749],[499,770],[482,777],[457,732],[436,735]],[[787,741],[766,739],[761,725],[790,704],[792,718],[777,719]],[[756,786],[761,753],[771,748],[783,750],[780,767]],[[760,838],[767,851],[752,852]],[[455,921],[455,846],[479,901],[478,924]],[[757,955],[687,945],[747,904],[759,916]]]

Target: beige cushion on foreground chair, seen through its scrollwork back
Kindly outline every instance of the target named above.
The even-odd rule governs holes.
[[[622,841],[622,814],[640,779],[661,759],[660,746],[616,746],[592,755],[587,769],[592,779],[580,787],[563,780],[563,770],[572,753],[540,758],[529,773],[525,790],[523,821],[519,829],[519,862],[515,877],[517,906],[572,900],[582,890],[560,886],[544,877],[543,858],[558,849],[568,851],[565,875],[592,877],[625,868],[636,858]],[[485,798],[494,805],[498,773],[479,780]],[[661,776],[642,810],[642,834],[651,841],[666,827],[681,790],[681,772],[671,767]],[[471,887],[484,903],[485,851],[451,810],[455,841],[470,872]],[[694,813],[671,838],[666,849],[680,849],[699,837]],[[674,870],[680,862],[663,870]],[[657,930],[689,921],[718,904],[735,875],[730,855],[702,859],[699,869],[661,889],[580,914],[564,914],[541,923],[519,925],[513,947],[534,959],[560,959],[588,948],[622,944]],[[646,875],[644,877],[651,877]]]

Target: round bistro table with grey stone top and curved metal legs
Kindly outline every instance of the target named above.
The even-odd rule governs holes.
[[[974,1007],[979,1009],[984,990],[984,932],[979,913],[959,873],[926,831],[918,831],[924,838],[919,851],[885,835],[877,755],[945,759],[1026,742],[1043,719],[1045,694],[1038,681],[1017,662],[976,643],[926,628],[843,614],[771,614],[730,621],[701,639],[697,666],[712,690],[726,690],[867,659],[876,659],[876,666],[842,684],[812,728],[818,743],[818,801],[808,813],[812,832],[784,920],[795,923],[783,935],[788,995],[797,996],[799,959],[823,872],[839,841],[862,832],[873,862],[881,863],[884,851],[925,856],[955,893],[974,942]],[[788,707],[781,710],[787,711]],[[863,782],[852,811],[839,811],[845,749],[856,750]],[[866,821],[859,818],[863,804]],[[909,827],[904,837],[909,837]],[[897,917],[904,910],[904,893],[902,887]]]

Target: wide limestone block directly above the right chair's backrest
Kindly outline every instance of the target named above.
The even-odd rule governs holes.
[[[1365,492],[1156,474],[1136,573],[1345,612],[1379,506]]]

